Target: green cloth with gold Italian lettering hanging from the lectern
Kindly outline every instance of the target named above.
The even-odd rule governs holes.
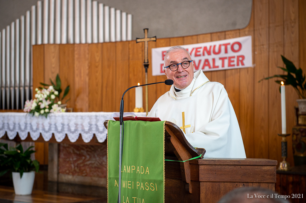
[[[118,201],[119,121],[108,121],[108,202]],[[121,203],[164,202],[164,121],[125,121]]]

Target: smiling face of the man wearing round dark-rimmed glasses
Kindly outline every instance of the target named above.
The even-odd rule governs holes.
[[[165,66],[169,66],[173,63],[181,63],[183,61],[191,61],[191,57],[184,49],[178,49],[172,52],[169,52],[165,57]],[[179,89],[184,89],[187,87],[193,79],[193,62],[190,62],[188,68],[182,68],[181,65],[178,65],[176,71],[170,70],[170,68],[164,69],[164,72],[168,79],[174,81],[174,86]]]

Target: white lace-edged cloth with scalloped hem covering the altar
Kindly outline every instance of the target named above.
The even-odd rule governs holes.
[[[54,134],[56,141],[61,142],[66,134],[71,142],[75,142],[81,134],[85,143],[93,138],[94,134],[99,142],[106,140],[107,130],[104,121],[113,119],[114,112],[65,112],[50,113],[47,118],[35,117],[27,113],[4,112],[0,113],[0,138],[7,133],[10,140],[17,136],[21,140],[28,137],[37,140],[40,133],[45,141],[49,141]],[[145,112],[136,113],[145,116]]]

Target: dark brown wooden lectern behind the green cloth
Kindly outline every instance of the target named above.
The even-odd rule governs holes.
[[[107,128],[107,121],[104,122]],[[185,161],[205,153],[193,148],[181,129],[165,123],[165,159]],[[198,158],[165,161],[165,203],[215,203],[236,187],[275,190],[276,160],[255,158]]]

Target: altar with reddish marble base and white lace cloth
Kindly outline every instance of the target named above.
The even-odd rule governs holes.
[[[47,142],[48,180],[106,187],[107,130],[114,112],[65,112],[35,117],[0,113],[0,139]],[[145,113],[136,113],[145,116]]]

